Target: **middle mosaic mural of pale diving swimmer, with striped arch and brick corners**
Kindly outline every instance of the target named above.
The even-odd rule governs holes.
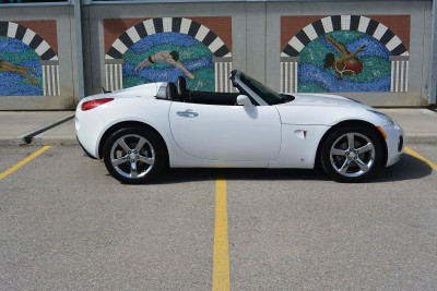
[[[196,20],[105,20],[107,89],[176,82],[185,76],[189,89],[229,90],[231,82],[225,78],[232,70],[231,17]],[[126,31],[118,28],[128,25]]]

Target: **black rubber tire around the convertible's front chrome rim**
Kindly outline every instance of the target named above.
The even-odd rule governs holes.
[[[333,143],[340,136],[342,136],[346,133],[363,134],[364,136],[369,138],[370,142],[374,144],[374,148],[375,148],[374,165],[371,166],[371,168],[368,172],[366,172],[359,177],[342,175],[341,173],[336,172],[336,170],[331,165],[331,157],[330,157],[331,147],[332,147]],[[373,177],[376,172],[378,172],[380,170],[380,168],[382,166],[382,160],[383,160],[382,144],[381,144],[380,140],[378,138],[377,134],[373,130],[365,128],[365,126],[361,126],[361,125],[341,128],[341,129],[335,130],[326,140],[326,142],[323,144],[323,148],[321,150],[321,163],[322,163],[324,171],[338,182],[355,183],[355,182],[363,182],[365,180],[368,180],[370,177]]]

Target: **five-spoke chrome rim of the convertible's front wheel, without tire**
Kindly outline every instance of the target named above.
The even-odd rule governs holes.
[[[334,170],[344,177],[361,177],[375,162],[376,150],[371,141],[361,133],[346,133],[332,144],[330,160]]]

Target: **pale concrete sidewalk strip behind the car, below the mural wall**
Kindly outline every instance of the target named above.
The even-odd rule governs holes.
[[[402,126],[409,144],[437,144],[437,112],[380,109]],[[74,111],[0,111],[0,145],[78,144]]]

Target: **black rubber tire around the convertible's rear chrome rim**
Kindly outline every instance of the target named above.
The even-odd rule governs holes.
[[[153,165],[152,170],[145,174],[144,177],[141,178],[126,178],[121,175],[117,170],[113,167],[113,163],[110,162],[111,157],[110,157],[110,150],[113,148],[114,143],[120,138],[123,135],[128,134],[137,134],[145,140],[149,141],[149,143],[152,145],[153,150],[155,153],[155,162]],[[125,128],[116,131],[113,133],[109,138],[106,141],[104,149],[103,149],[103,158],[104,162],[106,166],[106,169],[108,172],[118,181],[126,183],[126,184],[143,184],[149,181],[152,181],[155,179],[163,170],[165,166],[165,160],[166,160],[166,153],[165,153],[165,146],[163,145],[163,142],[161,138],[150,130],[144,130],[140,128]]]

